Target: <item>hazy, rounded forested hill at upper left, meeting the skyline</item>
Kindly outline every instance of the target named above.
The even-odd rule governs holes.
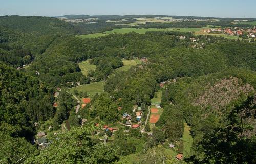
[[[74,35],[73,25],[52,17],[0,16],[0,43],[43,53],[57,36]]]

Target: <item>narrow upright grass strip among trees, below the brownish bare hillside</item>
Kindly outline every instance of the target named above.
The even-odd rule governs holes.
[[[190,135],[190,127],[187,125],[187,123],[184,123],[184,133],[182,136],[183,144],[184,144],[184,155],[188,155],[190,153],[190,149],[193,143],[193,138]]]

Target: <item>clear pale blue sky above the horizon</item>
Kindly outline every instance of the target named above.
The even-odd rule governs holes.
[[[256,18],[256,0],[0,0],[0,15],[69,14]]]

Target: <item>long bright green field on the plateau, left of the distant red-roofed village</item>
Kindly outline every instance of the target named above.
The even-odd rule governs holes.
[[[77,35],[76,37],[78,38],[97,38],[100,36],[106,36],[109,35],[111,33],[118,33],[118,34],[125,34],[125,33],[129,33],[129,32],[136,32],[136,33],[140,33],[140,34],[145,34],[147,31],[180,31],[180,32],[196,32],[196,31],[200,31],[201,29],[207,29],[207,27],[204,28],[165,28],[165,29],[158,29],[158,28],[148,28],[148,29],[136,29],[136,28],[122,28],[122,29],[114,29],[111,31],[106,31],[105,34],[103,33],[95,33],[95,34],[87,34],[87,35]]]

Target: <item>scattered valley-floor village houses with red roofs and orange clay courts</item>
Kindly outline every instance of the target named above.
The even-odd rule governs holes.
[[[141,59],[142,62],[148,62],[146,58]],[[152,129],[155,126],[155,123],[159,120],[163,108],[160,106],[161,103],[161,92],[162,90],[166,89],[168,84],[175,83],[176,79],[170,79],[169,81],[164,81],[158,84],[159,91],[155,93],[155,97],[152,99],[151,106],[148,106],[145,108],[145,106],[138,106],[134,105],[132,109],[132,113],[124,112],[122,113],[122,119],[120,122],[117,123],[111,123],[111,124],[105,124],[104,122],[95,122],[94,126],[97,127],[99,130],[95,131],[90,137],[93,137],[94,139],[98,139],[100,142],[108,143],[115,140],[115,133],[120,128],[124,129],[125,135],[129,135],[129,132],[132,129],[136,129],[139,133],[142,135],[146,133],[148,137],[152,137]],[[61,88],[56,88],[56,91],[54,92],[54,97],[57,100],[60,96]],[[73,95],[74,96],[74,95]],[[90,97],[81,98],[81,101],[78,101],[77,106],[75,107],[76,114],[78,113],[78,110],[84,110],[85,108],[92,109],[92,100]],[[56,101],[53,104],[53,107],[57,108],[58,102]],[[122,107],[119,106],[117,108],[118,112],[121,112]],[[87,118],[81,118],[80,115],[77,115],[78,118],[80,118],[82,127],[84,124],[88,122]],[[37,123],[36,123],[37,124]],[[35,125],[37,126],[37,125]],[[52,130],[52,125],[50,125],[47,130],[45,131],[38,131],[35,138],[37,138],[36,142],[41,149],[45,149],[51,144],[50,138],[58,139],[58,133],[65,132],[67,130],[70,130],[70,125],[67,125],[66,123],[63,123],[62,130],[55,132]],[[149,128],[149,129],[147,129]],[[63,130],[64,129],[64,130]],[[51,136],[48,138],[48,134]],[[172,152],[172,154],[175,154],[175,152],[178,150],[177,143],[168,143],[168,148]],[[177,153],[174,156],[177,160],[182,160],[184,155],[182,153]]]

